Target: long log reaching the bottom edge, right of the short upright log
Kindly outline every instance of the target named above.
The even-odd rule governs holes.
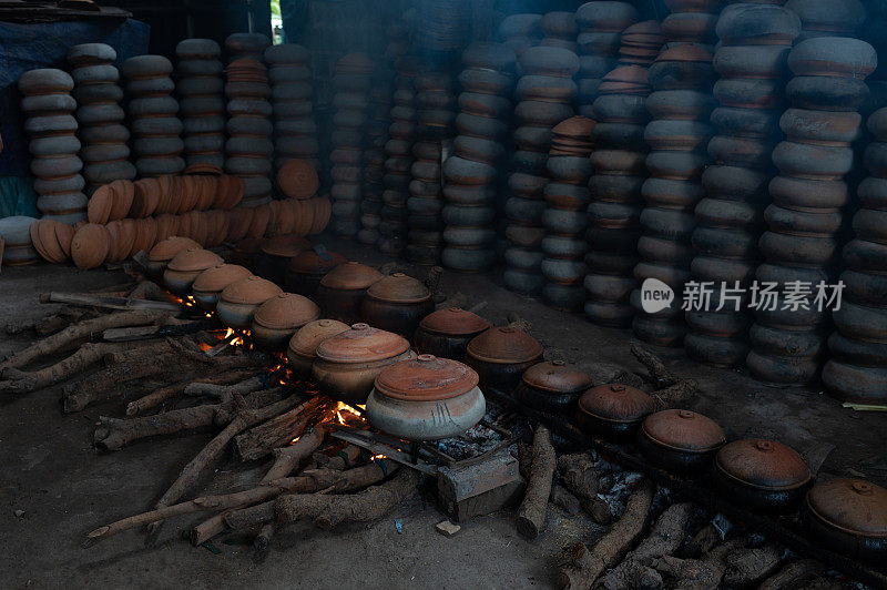
[[[573,547],[570,563],[558,576],[559,586],[573,590],[591,588],[601,572],[613,566],[641,535],[652,501],[653,485],[644,481],[629,497],[622,518],[601,537],[593,550],[582,542]]]

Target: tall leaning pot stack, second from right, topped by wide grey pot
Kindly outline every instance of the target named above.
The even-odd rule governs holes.
[[[786,140],[773,151],[779,175],[769,183],[773,204],[758,242],[765,262],[755,273],[758,283],[775,283],[779,296],[775,309],[755,309],[746,358],[759,380],[804,385],[817,377],[829,312],[817,309],[814,294],[808,309],[793,309],[783,293],[796,282],[815,291],[819,282],[836,278],[842,207],[849,193],[845,175],[854,165],[850,144],[860,133],[856,110],[876,63],[871,45],[849,38],[812,38],[788,54],[793,108],[779,120]]]

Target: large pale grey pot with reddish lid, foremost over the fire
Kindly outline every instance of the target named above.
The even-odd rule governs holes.
[[[459,436],[487,410],[478,380],[470,367],[434,355],[395,363],[376,377],[367,418],[374,427],[407,440]]]

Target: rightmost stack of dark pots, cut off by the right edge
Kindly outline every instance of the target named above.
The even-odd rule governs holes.
[[[856,190],[859,211],[855,238],[844,246],[845,285],[840,308],[832,313],[836,332],[823,383],[843,401],[883,405],[887,399],[887,109],[868,118],[876,141],[866,148],[870,176]]]

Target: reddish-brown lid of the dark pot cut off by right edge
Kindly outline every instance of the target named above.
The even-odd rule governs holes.
[[[887,538],[887,489],[870,481],[840,478],[817,484],[805,502],[829,527],[857,537]]]

